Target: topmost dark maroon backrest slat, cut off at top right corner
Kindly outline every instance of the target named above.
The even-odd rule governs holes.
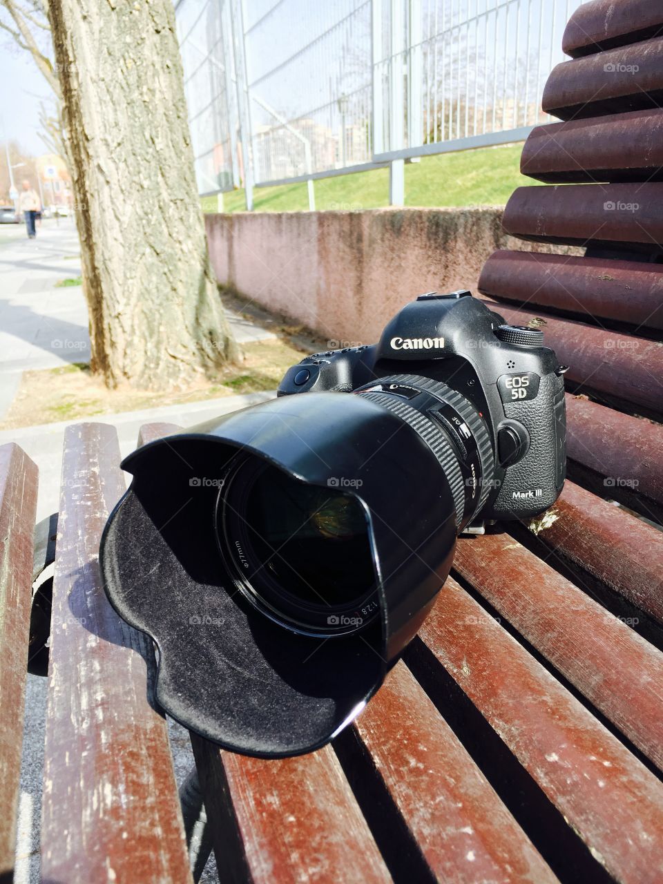
[[[660,34],[663,7],[652,0],[593,0],[575,10],[562,38],[562,49],[578,58]]]

